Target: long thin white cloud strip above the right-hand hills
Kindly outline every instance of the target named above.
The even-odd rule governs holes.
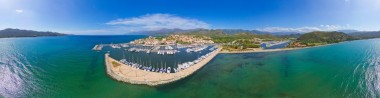
[[[300,27],[300,28],[286,28],[286,27],[266,27],[258,30],[267,31],[267,32],[297,32],[297,33],[305,33],[312,31],[336,31],[342,29],[348,29],[350,27],[349,24],[344,26],[341,25],[320,25],[317,27]]]

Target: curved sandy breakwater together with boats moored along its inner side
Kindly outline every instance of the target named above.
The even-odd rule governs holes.
[[[111,58],[110,54],[107,53],[105,54],[107,74],[122,82],[157,86],[174,82],[193,74],[214,58],[220,50],[221,48],[218,48],[194,61],[178,64],[177,67],[165,66],[161,68],[143,66],[144,64],[125,59],[118,61]]]

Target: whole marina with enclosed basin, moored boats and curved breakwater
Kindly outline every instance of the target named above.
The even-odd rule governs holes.
[[[202,68],[222,49],[210,40],[191,36],[148,37],[129,43],[102,44],[107,74],[131,84],[156,86],[185,78]],[[190,44],[176,43],[176,40]],[[96,45],[95,47],[99,47]],[[104,47],[104,48],[103,48]]]

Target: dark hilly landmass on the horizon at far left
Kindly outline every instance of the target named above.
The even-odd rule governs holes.
[[[64,36],[66,34],[50,32],[50,31],[33,31],[7,28],[0,30],[0,38],[10,37],[39,37],[39,36]]]

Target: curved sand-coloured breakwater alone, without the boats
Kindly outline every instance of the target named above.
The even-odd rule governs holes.
[[[211,53],[205,59],[190,66],[189,68],[175,73],[157,73],[137,69],[111,58],[108,53],[105,54],[105,65],[107,74],[115,80],[130,84],[145,84],[149,86],[157,86],[171,83],[183,79],[187,76],[190,76],[197,70],[201,69],[209,61],[211,61],[220,51],[221,48],[218,48],[215,52]]]

